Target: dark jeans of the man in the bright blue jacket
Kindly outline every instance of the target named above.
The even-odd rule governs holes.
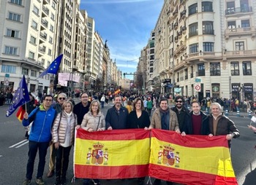
[[[49,142],[36,142],[29,141],[29,160],[26,165],[26,178],[31,180],[34,171],[34,159],[37,156],[37,150],[39,151],[39,162],[37,168],[37,178],[41,178],[45,170],[45,156]]]

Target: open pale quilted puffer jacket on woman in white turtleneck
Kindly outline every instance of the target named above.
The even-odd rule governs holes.
[[[61,119],[61,120],[60,120]],[[59,113],[54,121],[52,128],[53,143],[64,143],[67,134],[67,114],[65,111]],[[71,146],[75,139],[75,125],[77,125],[77,117],[74,113],[71,114],[70,119],[70,143]]]

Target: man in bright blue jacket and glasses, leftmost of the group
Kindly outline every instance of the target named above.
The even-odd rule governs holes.
[[[26,180],[23,181],[23,185],[31,184],[37,150],[39,151],[39,163],[36,184],[45,184],[42,180],[45,169],[45,156],[51,140],[51,127],[56,117],[56,110],[53,109],[52,103],[53,96],[45,95],[39,108],[34,109],[31,114],[26,112],[23,116],[22,124],[24,127],[33,122],[29,135],[29,160],[26,165]]]

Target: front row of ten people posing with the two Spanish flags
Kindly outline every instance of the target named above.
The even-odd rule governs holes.
[[[232,138],[238,138],[240,133],[232,120],[222,114],[222,106],[219,103],[211,103],[211,114],[206,115],[200,111],[200,103],[192,102],[192,111],[184,106],[184,98],[176,96],[175,106],[169,108],[167,98],[159,99],[159,108],[152,115],[146,111],[143,98],[135,98],[128,111],[122,106],[121,95],[113,99],[113,107],[107,114],[102,114],[102,104],[95,99],[89,101],[86,92],[80,94],[80,103],[75,106],[67,100],[67,95],[60,93],[57,103],[53,106],[53,96],[45,95],[42,104],[25,113],[23,126],[31,122],[29,135],[29,160],[26,166],[26,180],[23,185],[31,184],[34,169],[34,160],[39,151],[39,165],[37,169],[36,183],[45,184],[42,174],[45,168],[45,156],[50,143],[50,162],[47,176],[56,174],[56,185],[66,184],[69,153],[75,140],[75,129],[84,129],[88,132],[100,132],[102,130],[154,128],[173,130],[183,135],[226,135],[228,145]],[[150,118],[151,115],[151,118]],[[138,184],[144,184],[145,177],[138,178]],[[90,181],[100,184],[99,179],[83,179],[83,185],[89,185]],[[155,179],[154,185],[161,184],[161,179]],[[167,182],[168,185],[173,182]]]

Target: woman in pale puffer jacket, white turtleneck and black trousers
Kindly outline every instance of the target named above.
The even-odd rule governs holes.
[[[64,102],[62,110],[56,117],[52,128],[53,143],[56,148],[55,185],[66,183],[69,153],[75,140],[75,125],[77,125],[77,118],[72,112],[72,102]]]

